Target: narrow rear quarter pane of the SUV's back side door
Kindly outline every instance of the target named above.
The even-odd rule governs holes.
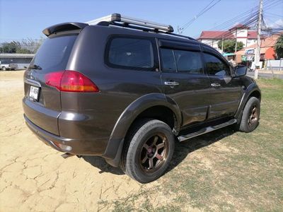
[[[176,64],[172,49],[160,49],[162,70],[176,72]]]

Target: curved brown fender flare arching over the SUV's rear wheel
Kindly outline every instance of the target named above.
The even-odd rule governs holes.
[[[103,158],[110,165],[117,167],[120,163],[124,139],[134,120],[146,109],[154,106],[164,106],[172,110],[175,115],[173,133],[178,134],[182,123],[182,115],[177,103],[163,93],[150,93],[134,100],[120,115],[112,130],[108,146]]]

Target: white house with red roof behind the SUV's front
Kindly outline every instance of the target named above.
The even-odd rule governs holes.
[[[218,47],[218,42],[222,39],[236,39],[237,42],[243,42],[243,47],[248,47],[256,43],[257,32],[250,30],[246,25],[238,24],[226,31],[202,31],[200,37],[197,38],[200,42],[214,47],[219,52],[222,52],[222,50],[221,47]]]

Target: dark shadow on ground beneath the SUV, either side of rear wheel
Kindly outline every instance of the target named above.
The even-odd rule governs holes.
[[[174,167],[178,166],[178,164],[181,163],[187,157],[187,155],[192,153],[193,151],[197,151],[200,148],[209,146],[212,143],[224,139],[226,136],[231,136],[233,133],[235,133],[233,127],[227,126],[223,129],[218,129],[216,131],[212,131],[202,136],[197,136],[187,141],[176,141],[175,152],[167,172],[173,170]],[[114,175],[124,175],[124,172],[120,170],[120,167],[112,167],[111,165],[108,165],[108,163],[106,163],[106,161],[99,156],[82,156],[82,158],[94,167],[99,168],[99,173],[110,172]]]

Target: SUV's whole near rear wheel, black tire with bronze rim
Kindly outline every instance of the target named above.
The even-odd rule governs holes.
[[[141,119],[129,129],[122,152],[121,169],[138,182],[152,182],[166,172],[175,140],[168,124]]]

